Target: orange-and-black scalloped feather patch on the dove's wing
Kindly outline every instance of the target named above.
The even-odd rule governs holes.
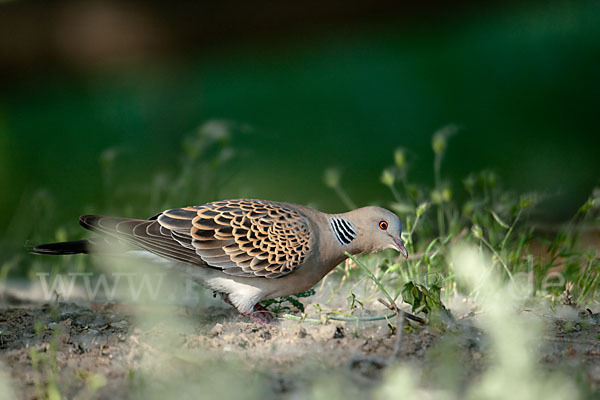
[[[312,250],[306,217],[282,203],[225,200],[166,210],[157,218],[181,246],[231,275],[278,278]]]

